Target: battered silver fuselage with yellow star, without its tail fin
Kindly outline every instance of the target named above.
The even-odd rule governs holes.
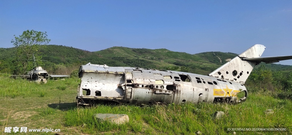
[[[215,77],[169,70],[108,67],[88,63],[79,69],[81,83],[78,104],[90,100],[113,100],[124,104],[148,105],[159,102],[243,102],[243,84]],[[244,96],[237,98],[237,93]]]

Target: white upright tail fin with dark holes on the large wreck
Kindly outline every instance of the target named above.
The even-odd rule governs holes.
[[[208,75],[244,84],[253,67],[260,61],[246,61],[243,58],[259,58],[265,48],[263,45],[254,45]]]

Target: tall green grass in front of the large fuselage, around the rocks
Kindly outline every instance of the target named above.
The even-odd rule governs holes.
[[[273,109],[274,113],[266,115],[264,111]],[[231,134],[227,127],[286,127],[292,129],[292,102],[279,100],[259,94],[250,94],[249,99],[237,105],[230,104],[169,104],[139,107],[134,105],[97,105],[89,108],[69,110],[65,116],[65,125],[85,127],[85,132],[108,132],[129,130],[141,132],[153,128],[161,134],[193,134],[197,131],[203,134]],[[220,119],[214,119],[215,111],[223,111]],[[126,124],[99,123],[93,119],[95,113],[127,114],[130,121]],[[149,127],[145,127],[145,124]],[[125,127],[126,126],[126,127]],[[251,134],[255,132],[238,132]],[[279,132],[262,132],[275,134]],[[283,132],[281,134],[291,134]]]

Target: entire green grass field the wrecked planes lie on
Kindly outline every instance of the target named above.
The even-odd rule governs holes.
[[[236,132],[236,134],[292,134],[292,102],[267,93],[249,93],[246,102],[229,104],[169,104],[154,106],[103,105],[76,106],[79,78],[48,80],[36,84],[0,75],[0,134],[5,127],[61,129],[58,134],[233,134],[225,128],[285,127],[286,132]],[[267,115],[267,109],[274,113]],[[223,111],[220,119],[212,117]],[[95,113],[127,114],[130,121],[115,125],[99,123]],[[7,133],[14,134],[14,133]],[[19,132],[16,134],[20,134]],[[55,134],[27,132],[24,134]]]

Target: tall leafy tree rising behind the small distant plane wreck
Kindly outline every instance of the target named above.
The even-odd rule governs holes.
[[[40,59],[38,56],[38,50],[40,45],[47,45],[51,40],[47,38],[47,32],[40,32],[34,30],[23,31],[22,35],[18,37],[14,35],[15,40],[11,40],[11,43],[17,47],[16,58],[20,60],[18,64],[22,65],[22,71],[26,73],[28,67],[28,60],[32,59],[34,55],[36,59]],[[19,70],[18,70],[19,71]]]

